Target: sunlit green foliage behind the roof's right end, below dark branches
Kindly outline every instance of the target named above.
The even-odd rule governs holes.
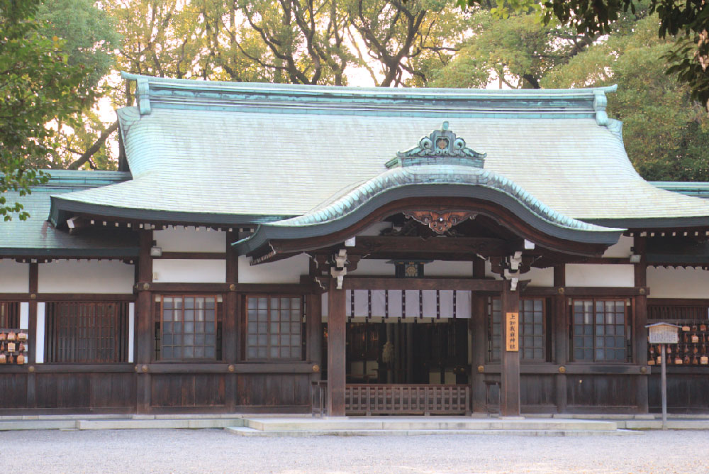
[[[646,180],[709,180],[709,130],[687,84],[664,74],[674,44],[657,37],[659,18],[610,35],[542,79],[544,87],[618,84],[608,112],[623,121],[625,148]]]

